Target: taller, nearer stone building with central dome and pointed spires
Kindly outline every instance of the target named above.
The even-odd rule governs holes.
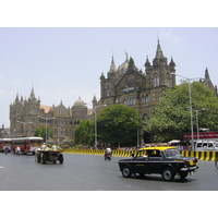
[[[150,64],[145,61],[145,72],[138,70],[133,58],[128,57],[117,69],[112,58],[107,77],[100,76],[100,105],[122,104],[135,108],[142,119],[153,114],[154,107],[162,96],[162,90],[175,85],[175,63],[168,63],[159,40],[156,56]]]

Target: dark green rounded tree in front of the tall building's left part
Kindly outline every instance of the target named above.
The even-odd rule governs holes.
[[[137,111],[123,105],[105,107],[97,114],[99,140],[114,145],[130,145],[136,142],[140,117]]]

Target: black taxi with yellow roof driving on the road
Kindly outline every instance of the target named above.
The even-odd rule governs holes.
[[[166,181],[172,181],[175,175],[184,179],[198,169],[197,158],[183,157],[172,146],[145,147],[131,155],[131,158],[118,161],[124,178],[132,174],[161,174]]]

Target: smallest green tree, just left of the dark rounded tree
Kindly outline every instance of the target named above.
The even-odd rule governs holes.
[[[90,146],[94,144],[94,121],[82,120],[78,125],[75,126],[74,142],[75,144],[83,144]]]

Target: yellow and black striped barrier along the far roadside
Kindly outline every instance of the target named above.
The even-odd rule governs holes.
[[[83,154],[83,155],[101,155],[104,156],[104,149],[65,149],[65,153]],[[135,154],[136,150],[112,150],[114,157],[130,157],[131,154]],[[196,157],[198,160],[215,161],[218,158],[218,152],[194,152],[194,150],[180,150],[184,157]]]

